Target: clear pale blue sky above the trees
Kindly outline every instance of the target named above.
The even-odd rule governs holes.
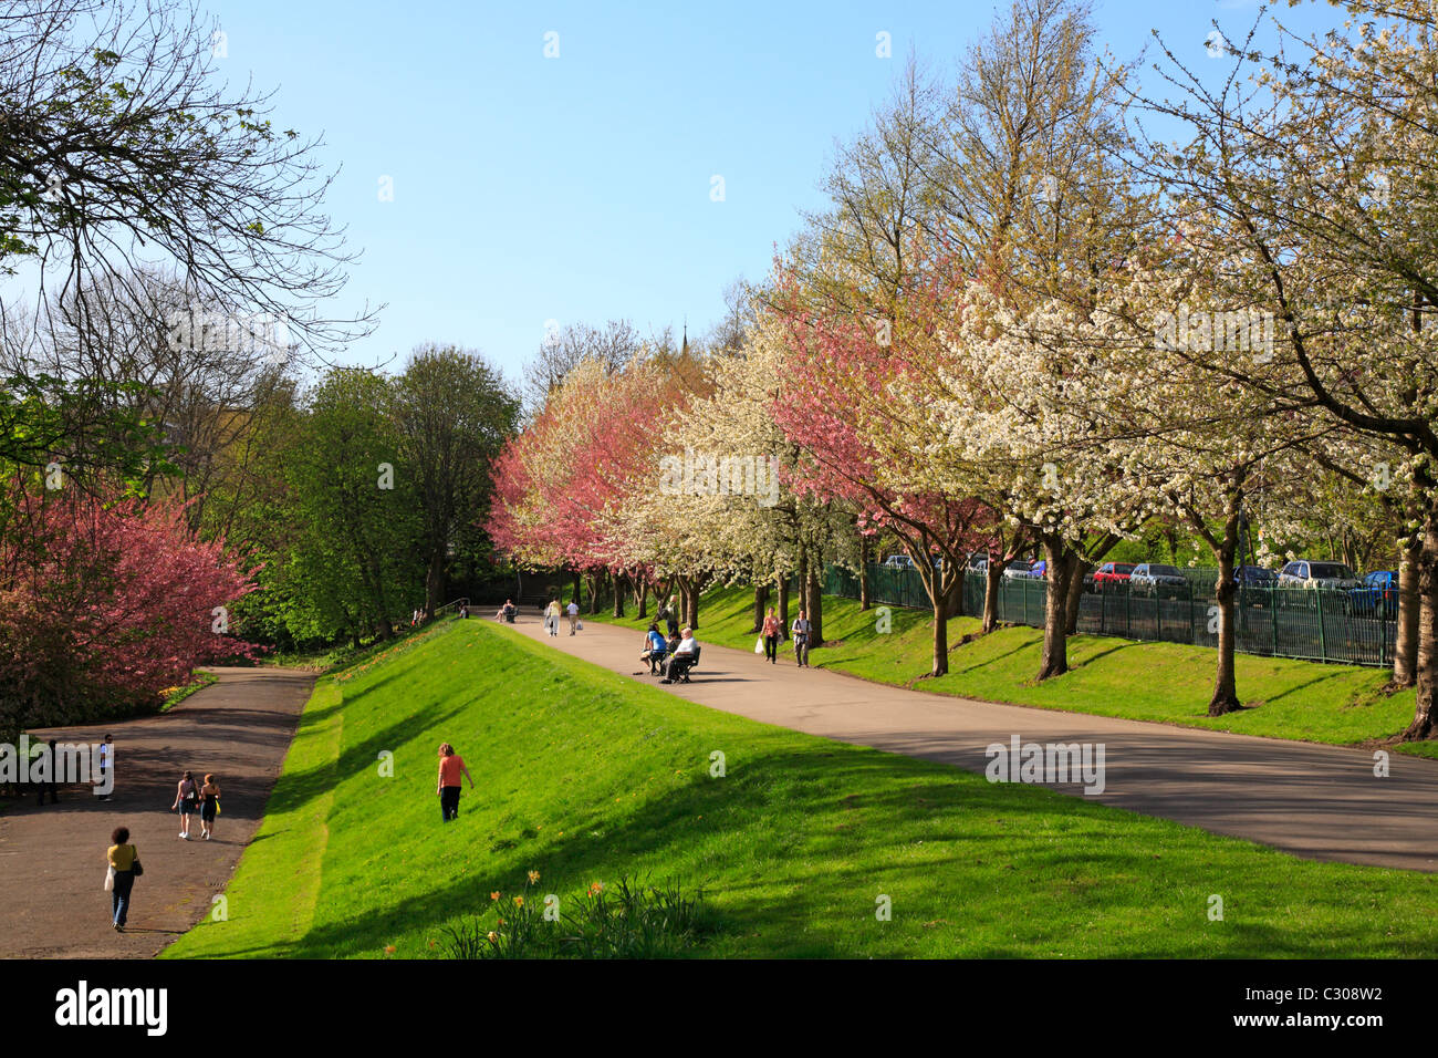
[[[1007,3],[1005,3],[1007,7]],[[328,199],[364,256],[345,301],[388,302],[348,363],[420,341],[485,351],[510,377],[545,321],[687,317],[769,268],[821,206],[835,140],[866,124],[913,48],[951,72],[992,3],[393,3],[210,0],[233,83],[278,89],[280,128],[322,131],[342,167]],[[1202,63],[1217,17],[1250,0],[1168,9],[1096,0],[1116,56],[1149,30]],[[1336,24],[1320,4],[1301,24]],[[545,33],[559,56],[546,59]],[[893,58],[876,58],[887,32]],[[710,177],[725,202],[710,200]],[[380,177],[394,200],[380,202]]]

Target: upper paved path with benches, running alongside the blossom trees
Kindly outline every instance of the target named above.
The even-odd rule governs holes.
[[[519,635],[656,682],[638,661],[641,635],[587,623],[545,635],[525,615]],[[1103,743],[1107,782],[1097,800],[1273,845],[1310,859],[1438,871],[1438,760],[1392,753],[1386,779],[1373,754],[1337,746],[1254,738],[952,698],[884,687],[824,669],[777,665],[746,651],[703,645],[690,684],[661,687],[709,708],[890,753],[984,772],[992,743]],[[640,674],[640,669],[644,669]],[[1077,785],[1053,789],[1084,796]]]

